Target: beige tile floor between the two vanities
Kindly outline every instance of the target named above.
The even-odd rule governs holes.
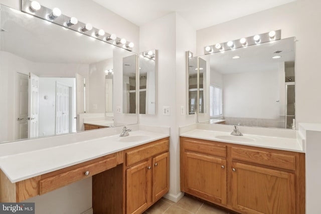
[[[177,203],[166,198],[159,199],[143,214],[229,214],[226,210],[219,209],[203,203],[193,197],[184,195]]]

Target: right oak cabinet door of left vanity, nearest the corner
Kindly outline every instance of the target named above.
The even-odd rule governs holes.
[[[170,153],[152,158],[152,167],[152,202],[155,202],[170,188]]]

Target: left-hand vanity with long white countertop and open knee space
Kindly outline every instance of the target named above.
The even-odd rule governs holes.
[[[20,202],[92,176],[94,213],[141,213],[169,190],[169,134],[134,128],[126,137],[2,156],[0,166],[1,202]]]

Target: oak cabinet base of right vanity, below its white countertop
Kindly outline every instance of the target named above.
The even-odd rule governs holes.
[[[210,148],[216,146],[226,146],[225,174],[210,164],[213,155]],[[181,137],[181,189],[240,213],[302,214],[305,213],[304,158],[304,153],[299,152]],[[210,170],[216,176],[219,174],[221,180]],[[211,188],[206,183],[220,183],[226,190],[226,203],[209,193]]]

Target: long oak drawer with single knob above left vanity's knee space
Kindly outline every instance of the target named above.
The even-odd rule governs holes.
[[[66,171],[45,179],[41,179],[39,181],[39,194],[47,193],[49,191],[68,185],[75,181],[98,174],[102,171],[113,168],[116,165],[117,165],[116,155],[111,155],[104,160],[100,160],[95,163],[91,163],[70,171]],[[88,175],[85,174],[86,171],[89,172]]]

